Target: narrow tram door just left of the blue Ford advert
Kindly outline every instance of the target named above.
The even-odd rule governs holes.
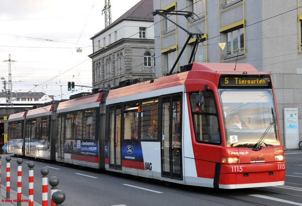
[[[109,167],[122,169],[121,162],[121,107],[110,108]]]

